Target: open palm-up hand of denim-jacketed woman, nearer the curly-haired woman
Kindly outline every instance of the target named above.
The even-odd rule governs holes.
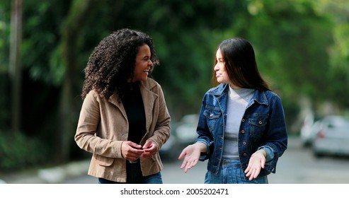
[[[194,167],[198,163],[200,153],[205,149],[205,144],[200,143],[191,144],[183,149],[182,153],[178,157],[178,160],[181,160],[184,157],[181,165],[181,169],[184,168],[184,173],[187,173],[190,168]]]

